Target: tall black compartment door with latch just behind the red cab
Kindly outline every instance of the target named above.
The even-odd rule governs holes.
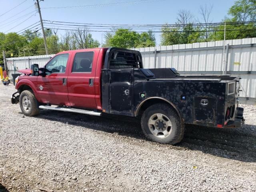
[[[110,110],[112,112],[131,112],[132,69],[110,72]]]

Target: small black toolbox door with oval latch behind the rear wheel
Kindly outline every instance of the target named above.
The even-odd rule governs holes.
[[[216,99],[196,96],[194,98],[194,122],[215,122]]]

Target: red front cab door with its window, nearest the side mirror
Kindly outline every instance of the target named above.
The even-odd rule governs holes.
[[[67,78],[70,58],[70,54],[58,54],[46,64],[46,76],[37,78],[40,102],[69,105]]]

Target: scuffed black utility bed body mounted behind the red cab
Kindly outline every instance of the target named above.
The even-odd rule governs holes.
[[[118,51],[133,53],[138,65],[111,66],[111,57]],[[113,48],[106,58],[102,108],[107,113],[138,116],[143,105],[154,100],[169,103],[187,124],[222,128],[239,127],[243,121],[243,108],[238,107],[237,100],[239,77],[180,75],[174,68],[144,69],[140,52],[134,50]]]

